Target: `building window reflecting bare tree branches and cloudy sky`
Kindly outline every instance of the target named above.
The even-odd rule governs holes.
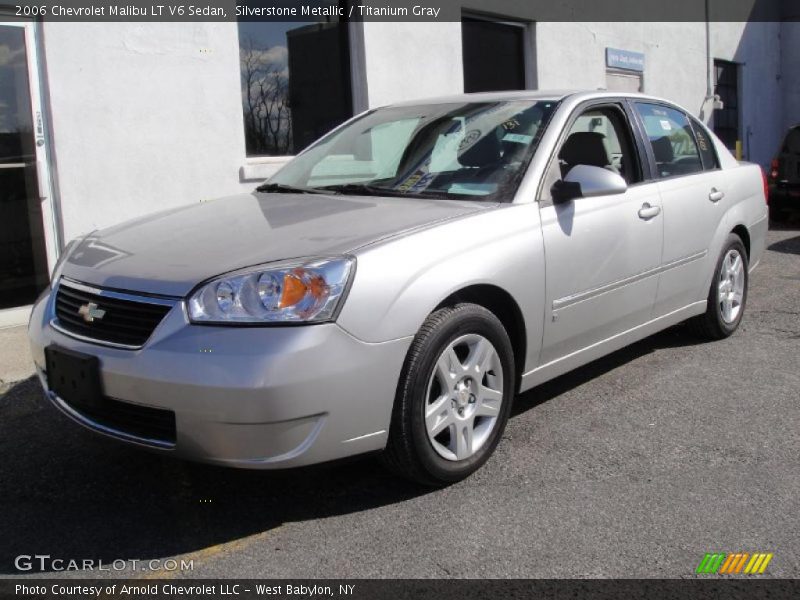
[[[239,21],[247,156],[300,152],[353,115],[347,23]]]

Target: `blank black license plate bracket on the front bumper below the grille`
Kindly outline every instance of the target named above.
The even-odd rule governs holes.
[[[59,398],[79,408],[99,408],[103,403],[100,360],[96,356],[59,346],[44,349],[47,386]]]

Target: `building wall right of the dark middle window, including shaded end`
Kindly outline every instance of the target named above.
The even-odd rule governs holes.
[[[712,59],[742,65],[742,143],[745,158],[762,165],[783,129],[780,30],[780,23],[710,24]],[[707,123],[712,118],[705,100],[705,23],[537,23],[536,39],[540,88],[603,88],[605,48],[621,48],[644,53],[645,93],[671,100]],[[800,40],[784,40],[784,45],[798,55]]]

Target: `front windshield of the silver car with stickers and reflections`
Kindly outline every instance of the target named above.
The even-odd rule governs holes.
[[[554,101],[391,106],[334,131],[265,189],[508,201]]]

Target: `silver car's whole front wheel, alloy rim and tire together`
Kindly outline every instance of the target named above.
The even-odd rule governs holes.
[[[474,473],[503,434],[514,374],[511,342],[494,314],[475,304],[431,314],[403,366],[386,462],[425,485]]]

